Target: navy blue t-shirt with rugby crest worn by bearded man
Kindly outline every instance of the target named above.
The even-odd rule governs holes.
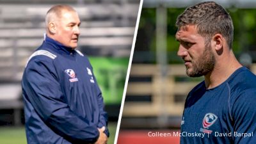
[[[245,67],[219,86],[188,94],[180,143],[256,143],[256,76]]]

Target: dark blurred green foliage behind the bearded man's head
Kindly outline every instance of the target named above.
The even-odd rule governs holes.
[[[169,63],[182,63],[176,55],[179,43],[175,40],[177,16],[184,8],[167,9],[167,52]],[[239,58],[243,52],[254,57],[256,51],[256,10],[250,8],[227,8],[234,22],[233,50]],[[156,63],[156,8],[143,8],[138,29],[133,63]],[[146,57],[142,60],[141,55]],[[138,58],[140,57],[140,58]]]

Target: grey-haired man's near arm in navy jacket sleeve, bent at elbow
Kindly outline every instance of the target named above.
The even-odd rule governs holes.
[[[52,61],[40,58],[30,61],[24,72],[22,86],[36,113],[54,132],[72,143],[97,141],[97,125],[70,110],[54,70]]]

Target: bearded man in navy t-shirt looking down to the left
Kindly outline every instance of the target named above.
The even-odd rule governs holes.
[[[176,26],[186,73],[204,76],[186,99],[180,143],[256,143],[256,76],[234,56],[230,15],[215,2],[198,3]],[[195,132],[205,136],[188,136]]]

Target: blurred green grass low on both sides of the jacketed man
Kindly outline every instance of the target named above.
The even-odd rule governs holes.
[[[109,123],[109,144],[113,144],[115,140],[116,122]],[[0,143],[1,144],[26,144],[25,127],[3,126],[0,127]]]

